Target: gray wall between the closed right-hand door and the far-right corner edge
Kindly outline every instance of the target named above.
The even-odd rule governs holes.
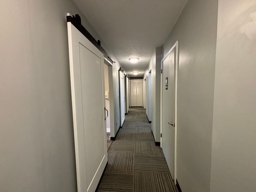
[[[209,192],[217,0],[189,0],[163,45],[179,42],[177,179],[182,192]]]

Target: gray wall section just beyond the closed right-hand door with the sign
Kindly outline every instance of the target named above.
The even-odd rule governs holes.
[[[151,70],[151,107],[152,107],[152,124],[151,129],[156,142],[160,142],[160,79],[161,79],[161,58],[162,48],[154,48],[150,62],[144,74],[148,78],[148,72]],[[146,95],[147,96],[147,95]],[[148,99],[148,98],[147,98]],[[147,114],[149,113],[146,110]]]

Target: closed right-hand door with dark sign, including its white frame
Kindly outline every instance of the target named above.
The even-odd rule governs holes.
[[[178,42],[161,61],[161,147],[176,184]]]

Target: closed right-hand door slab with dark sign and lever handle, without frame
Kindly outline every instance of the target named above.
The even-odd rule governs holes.
[[[162,62],[162,149],[174,179],[175,49]]]

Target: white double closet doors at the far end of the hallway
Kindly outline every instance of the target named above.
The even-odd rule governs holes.
[[[131,80],[130,81],[131,88],[131,106],[143,106],[143,86],[142,80]]]

